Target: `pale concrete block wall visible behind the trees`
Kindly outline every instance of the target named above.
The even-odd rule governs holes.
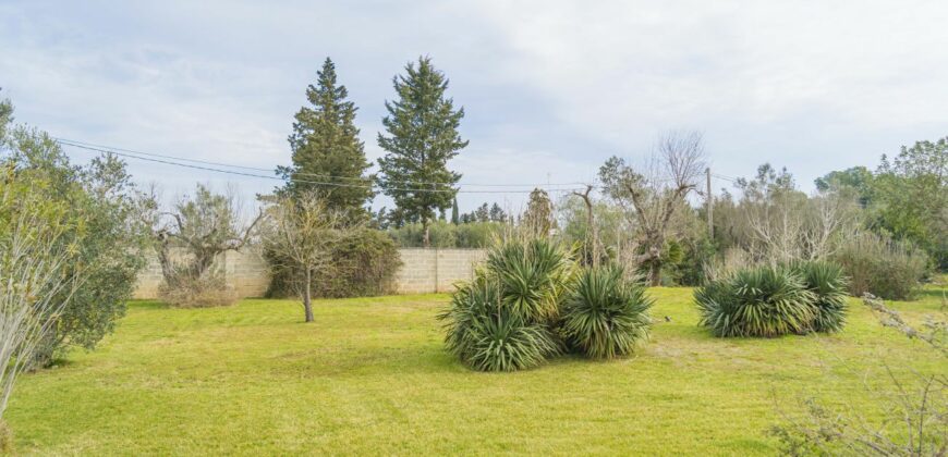
[[[396,273],[399,294],[451,292],[452,284],[470,280],[474,265],[486,257],[483,249],[399,249],[402,268]],[[227,252],[219,260],[228,284],[241,297],[259,297],[267,291],[267,262],[259,252]],[[135,298],[156,298],[161,284],[161,267],[150,255],[148,265],[138,274]]]

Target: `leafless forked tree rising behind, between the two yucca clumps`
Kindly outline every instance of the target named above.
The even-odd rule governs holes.
[[[670,132],[659,138],[645,166],[636,170],[612,157],[599,169],[605,194],[627,208],[635,224],[637,262],[649,268],[653,286],[661,283],[661,255],[672,220],[686,208],[704,171],[704,143],[697,132]]]

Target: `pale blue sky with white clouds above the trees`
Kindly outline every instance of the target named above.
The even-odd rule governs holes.
[[[948,135],[945,24],[948,2],[912,0],[0,0],[0,95],[56,137],[269,170],[290,162],[293,114],[330,57],[375,161],[391,79],[424,54],[466,113],[470,146],[449,164],[464,211],[518,210],[531,188],[477,184],[591,183],[672,129],[704,134],[716,174],[769,162],[810,192]],[[200,182],[252,200],[279,184],[129,168],[166,196]]]

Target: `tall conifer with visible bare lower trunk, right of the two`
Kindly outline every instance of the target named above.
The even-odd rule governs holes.
[[[467,146],[458,133],[464,108],[454,110],[453,100],[446,98],[448,79],[429,58],[418,58],[417,66],[409,63],[405,73],[392,78],[399,99],[385,103],[388,136],[379,134],[378,145],[388,153],[378,161],[379,186],[405,222],[422,223],[428,246],[429,222],[458,193],[461,174],[448,170],[448,160]]]

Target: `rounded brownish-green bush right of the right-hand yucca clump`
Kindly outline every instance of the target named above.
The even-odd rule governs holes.
[[[849,237],[832,255],[849,275],[849,293],[871,293],[890,300],[914,299],[927,273],[925,254],[904,242],[872,233]]]

